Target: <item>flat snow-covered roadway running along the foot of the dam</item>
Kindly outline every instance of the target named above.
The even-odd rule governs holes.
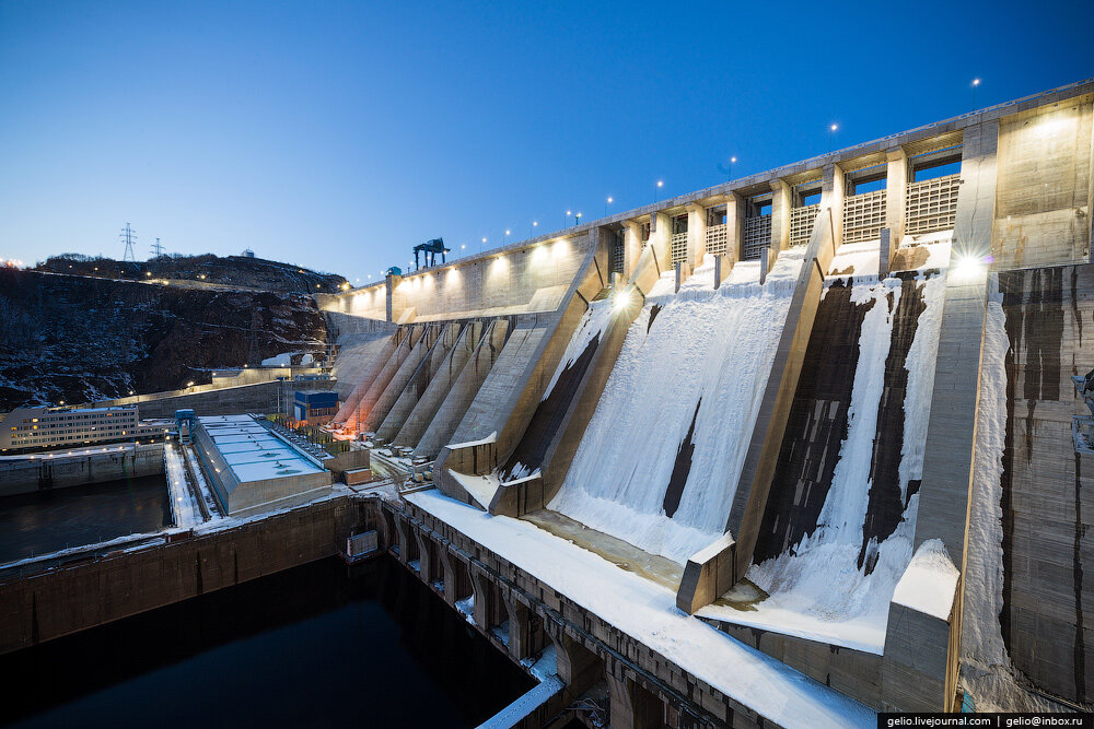
[[[439,491],[405,498],[783,727],[876,726],[866,706],[684,614],[672,590],[527,521],[491,517]]]

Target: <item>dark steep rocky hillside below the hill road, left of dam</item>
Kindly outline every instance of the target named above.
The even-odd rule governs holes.
[[[0,412],[170,390],[325,348],[323,315],[303,293],[0,269]]]

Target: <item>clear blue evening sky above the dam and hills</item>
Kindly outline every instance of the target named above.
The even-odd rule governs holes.
[[[1085,9],[1084,9],[1085,8]],[[1081,2],[0,0],[0,258],[373,280],[1094,75]]]

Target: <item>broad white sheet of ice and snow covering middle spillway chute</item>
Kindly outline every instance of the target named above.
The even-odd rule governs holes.
[[[804,248],[647,297],[549,508],[680,564],[725,530]],[[738,270],[740,269],[740,270]]]

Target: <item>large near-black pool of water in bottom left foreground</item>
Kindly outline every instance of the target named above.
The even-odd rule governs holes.
[[[389,557],[264,577],[0,657],[19,727],[470,727],[533,681]]]

